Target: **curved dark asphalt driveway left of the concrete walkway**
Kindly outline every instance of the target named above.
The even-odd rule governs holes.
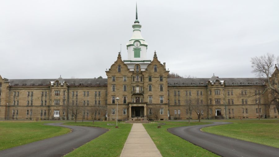
[[[104,128],[70,126],[62,125],[62,123],[48,123],[46,125],[66,127],[73,129],[73,131],[61,136],[2,150],[0,156],[60,157],[108,131]]]

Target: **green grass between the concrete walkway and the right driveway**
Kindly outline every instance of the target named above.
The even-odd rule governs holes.
[[[188,124],[188,122],[174,121],[164,121],[163,123],[166,123],[166,125],[161,125],[159,129],[157,128],[157,123],[144,124],[144,128],[162,156],[218,156],[167,131],[168,128],[207,123],[191,122],[191,124]]]

